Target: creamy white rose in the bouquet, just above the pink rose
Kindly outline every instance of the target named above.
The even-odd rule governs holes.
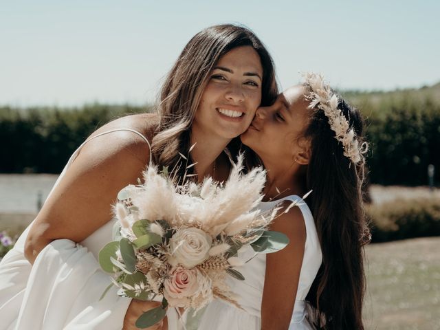
[[[211,245],[211,236],[199,228],[178,230],[170,239],[171,254],[178,263],[187,268],[208,259]]]

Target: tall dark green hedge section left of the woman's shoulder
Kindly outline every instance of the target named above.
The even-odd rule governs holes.
[[[92,104],[81,109],[0,108],[0,173],[61,173],[74,150],[98,127],[146,107]]]

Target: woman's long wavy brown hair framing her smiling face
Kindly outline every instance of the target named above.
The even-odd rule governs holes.
[[[278,90],[272,57],[252,31],[232,24],[202,30],[184,47],[162,87],[157,109],[160,122],[152,144],[155,164],[173,168],[180,160],[179,153],[188,155],[190,125],[210,71],[221,56],[240,46],[251,46],[260,56],[263,67],[261,103],[270,104],[276,97]],[[235,138],[228,147],[234,155],[240,146],[241,142]]]

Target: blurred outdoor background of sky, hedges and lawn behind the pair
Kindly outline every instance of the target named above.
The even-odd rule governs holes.
[[[191,37],[240,23],[281,89],[322,72],[364,113],[367,329],[440,329],[439,13],[430,0],[2,1],[0,257],[92,131],[152,111]]]

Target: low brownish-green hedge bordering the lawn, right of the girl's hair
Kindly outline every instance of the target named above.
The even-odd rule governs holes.
[[[440,236],[440,199],[397,199],[366,207],[372,241]]]

